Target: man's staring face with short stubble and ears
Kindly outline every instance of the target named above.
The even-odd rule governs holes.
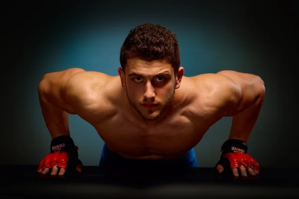
[[[133,108],[146,120],[161,116],[174,98],[180,79],[169,63],[162,60],[129,59],[126,73],[119,69],[123,88]]]

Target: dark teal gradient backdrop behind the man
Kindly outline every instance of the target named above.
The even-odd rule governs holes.
[[[263,4],[157,3],[48,3],[38,9],[21,4],[8,11],[1,164],[38,164],[50,150],[37,95],[43,74],[80,67],[117,76],[120,48],[129,30],[150,22],[176,34],[185,76],[221,70],[261,76],[266,99],[248,140],[249,153],[263,167],[299,166],[283,164],[298,156],[290,149],[298,135],[287,112],[295,109],[290,85],[296,88],[289,68],[295,51],[288,43],[295,34],[293,26],[284,23],[287,19],[269,15],[275,8]],[[286,55],[288,65],[283,64]],[[95,129],[77,115],[70,115],[69,125],[83,164],[98,165],[104,143]],[[230,117],[221,119],[198,143],[200,166],[215,165],[230,126]]]

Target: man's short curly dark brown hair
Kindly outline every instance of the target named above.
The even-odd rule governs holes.
[[[161,25],[145,23],[130,30],[120,54],[121,67],[125,71],[128,59],[146,61],[165,60],[176,74],[180,66],[178,42],[175,34]]]

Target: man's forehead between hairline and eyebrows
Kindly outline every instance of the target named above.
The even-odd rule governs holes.
[[[165,60],[145,61],[141,59],[128,59],[126,73],[138,73],[143,75],[154,75],[157,73],[172,73],[173,68]]]

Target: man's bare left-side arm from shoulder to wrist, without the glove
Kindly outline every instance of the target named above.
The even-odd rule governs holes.
[[[108,82],[109,77],[100,72],[85,72],[79,68],[44,75],[38,85],[38,96],[52,139],[60,135],[70,136],[69,114],[78,114],[89,122],[93,118],[98,119],[93,114],[102,110],[99,103],[107,106],[101,97],[101,87]]]

